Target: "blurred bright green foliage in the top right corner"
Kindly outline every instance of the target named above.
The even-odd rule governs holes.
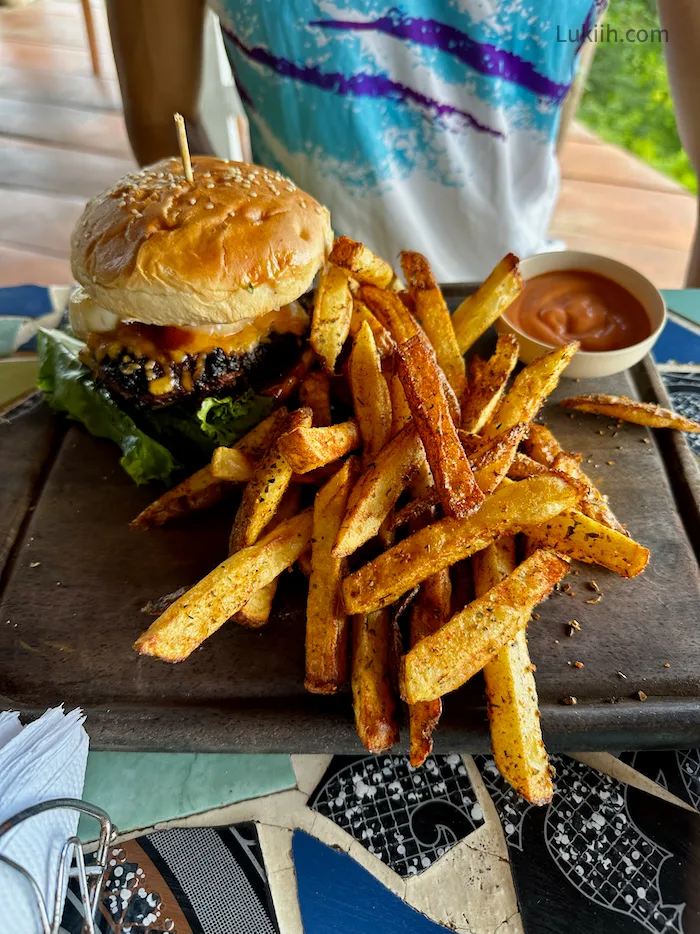
[[[600,31],[602,40],[605,25],[617,29],[619,39],[628,29],[658,29],[656,4],[654,0],[610,0]],[[676,128],[662,40],[600,41],[578,119],[603,139],[697,191],[697,179]]]

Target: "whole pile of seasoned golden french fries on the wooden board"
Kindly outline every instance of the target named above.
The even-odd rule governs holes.
[[[339,238],[316,290],[311,352],[285,384],[299,406],[218,449],[132,523],[157,526],[242,487],[229,556],[135,648],[178,662],[227,621],[264,626],[281,573],[297,565],[309,585],[306,689],[349,683],[368,750],[398,742],[403,701],[420,765],[442,698],[483,671],[496,763],[542,804],[552,779],[528,655],[532,612],[572,559],[633,577],[649,553],[580,456],[533,421],[577,344],[510,383],[518,346],[501,336],[467,371],[465,353],[522,288],[517,259],[454,315],[425,257],[405,252],[401,266],[405,287],[384,260]]]

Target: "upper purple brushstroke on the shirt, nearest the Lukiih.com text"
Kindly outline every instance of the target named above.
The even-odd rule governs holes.
[[[383,32],[397,39],[408,39],[417,45],[453,55],[479,74],[502,78],[557,103],[564,100],[569,90],[568,84],[559,84],[540,74],[531,62],[514,52],[507,52],[487,42],[477,42],[461,29],[437,20],[406,16],[397,8],[368,22],[329,19],[315,20],[309,25],[353,32]]]

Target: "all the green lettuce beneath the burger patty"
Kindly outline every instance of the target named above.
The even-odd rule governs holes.
[[[38,346],[39,388],[51,406],[98,438],[115,441],[120,463],[136,483],[174,482],[183,468],[203,466],[214,448],[233,444],[272,410],[271,399],[248,390],[237,399],[205,399],[196,409],[175,404],[127,411],[81,363],[81,341],[40,328]]]

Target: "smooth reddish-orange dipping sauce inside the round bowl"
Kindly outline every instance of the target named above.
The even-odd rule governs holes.
[[[504,317],[518,330],[559,347],[569,341],[581,350],[621,350],[652,332],[644,306],[634,295],[597,272],[545,272],[525,281]]]

